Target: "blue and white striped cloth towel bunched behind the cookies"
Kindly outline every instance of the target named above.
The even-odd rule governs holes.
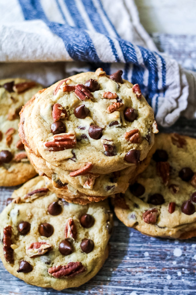
[[[162,126],[196,118],[195,73],[158,52],[133,0],[9,0],[0,12],[0,78],[49,85],[75,72],[122,69]]]

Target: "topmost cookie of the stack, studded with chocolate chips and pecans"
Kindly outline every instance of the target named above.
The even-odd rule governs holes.
[[[118,71],[107,76],[98,69],[37,94],[21,111],[19,135],[24,145],[62,173],[69,171],[72,178],[137,165],[158,130],[139,85],[121,75]]]

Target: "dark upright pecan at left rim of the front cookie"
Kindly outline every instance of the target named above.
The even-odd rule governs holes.
[[[11,248],[11,234],[12,228],[11,225],[4,227],[4,236],[3,236],[3,251],[5,260],[9,263],[14,263],[13,249]]]

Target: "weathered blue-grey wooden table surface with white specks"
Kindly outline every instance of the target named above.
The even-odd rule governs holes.
[[[189,62],[191,54],[183,50],[185,36],[179,41],[179,62]],[[187,37],[187,38],[190,38]],[[154,35],[159,49],[175,57],[172,37]],[[167,40],[165,42],[164,40]],[[171,51],[170,51],[171,48]],[[196,70],[196,59],[191,58],[191,69]],[[196,121],[180,119],[171,128],[160,131],[176,131],[196,137]],[[0,188],[0,211],[14,188]],[[0,295],[195,295],[196,289],[196,237],[189,240],[168,240],[142,235],[130,229],[114,217],[114,231],[110,239],[110,253],[98,274],[78,288],[55,291],[27,285],[8,273],[0,262]]]

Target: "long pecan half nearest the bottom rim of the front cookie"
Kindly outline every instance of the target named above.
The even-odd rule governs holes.
[[[55,278],[61,277],[73,277],[79,273],[86,271],[86,268],[82,265],[81,262],[69,262],[67,265],[53,266],[48,269],[48,273],[54,276]]]

